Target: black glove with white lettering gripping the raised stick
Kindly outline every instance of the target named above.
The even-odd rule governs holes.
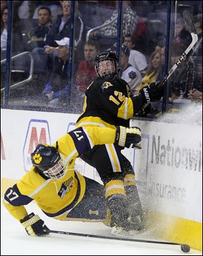
[[[143,87],[139,92],[144,96],[145,103],[158,102],[164,94],[164,87],[159,87],[160,83],[151,83]]]

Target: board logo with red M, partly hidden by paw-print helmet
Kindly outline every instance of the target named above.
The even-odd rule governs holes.
[[[37,144],[51,144],[49,124],[46,120],[31,119],[23,148],[24,171],[26,172],[32,167],[30,154],[35,150]]]

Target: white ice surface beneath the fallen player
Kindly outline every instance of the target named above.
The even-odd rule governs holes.
[[[26,206],[45,221],[51,230],[110,236],[110,228],[103,223],[58,221],[47,217],[34,203]],[[153,231],[152,231],[153,232]],[[150,239],[150,231],[137,235],[138,239]],[[187,254],[178,245],[145,244],[86,238],[62,234],[46,237],[28,236],[20,222],[12,217],[1,202],[1,255],[202,255],[191,249]]]

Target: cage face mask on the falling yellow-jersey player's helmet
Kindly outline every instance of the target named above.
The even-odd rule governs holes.
[[[43,174],[51,179],[61,179],[64,177],[64,175],[66,175],[66,173],[66,160],[63,156],[60,158],[60,161],[58,161],[57,164],[46,171],[43,171]]]

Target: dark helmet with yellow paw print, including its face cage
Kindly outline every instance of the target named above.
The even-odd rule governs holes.
[[[39,144],[30,156],[32,165],[47,177],[60,179],[65,175],[66,164],[58,152],[58,143],[56,148],[47,144]]]

